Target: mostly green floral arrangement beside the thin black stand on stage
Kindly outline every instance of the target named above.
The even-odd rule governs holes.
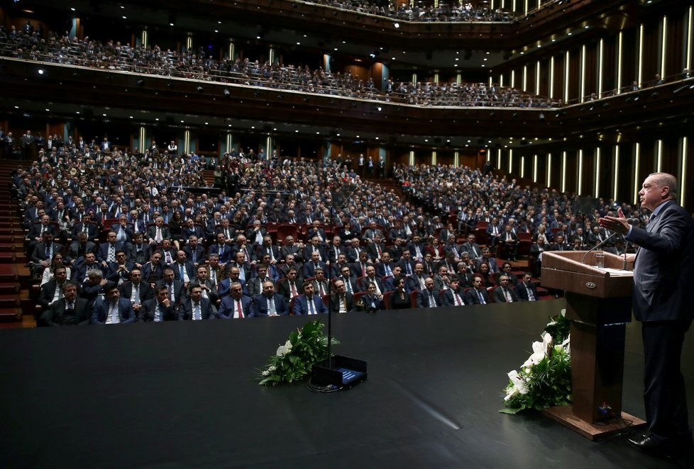
[[[258,384],[275,386],[293,383],[309,375],[315,363],[327,358],[328,337],[324,334],[323,327],[322,322],[311,321],[304,324],[302,329],[292,332],[260,371]],[[332,339],[331,344],[339,343],[337,339]]]

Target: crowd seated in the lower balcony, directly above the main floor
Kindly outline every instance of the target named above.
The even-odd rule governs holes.
[[[6,31],[0,28],[0,54],[22,60],[40,60],[59,64],[79,65],[106,70],[119,70],[143,74],[165,75],[234,83],[246,86],[265,86],[316,94],[331,94],[351,98],[419,104],[423,106],[518,106],[556,107],[561,103],[539,98],[524,91],[499,87],[486,93],[485,84],[438,84],[428,87],[411,85],[415,93],[407,90],[390,93],[378,91],[373,80],[363,81],[349,72],[331,73],[309,67],[260,63],[252,60],[215,60],[201,49],[195,52],[161,50],[158,46],[130,47],[114,41],[79,40],[58,37],[49,32],[45,40],[36,33]],[[389,86],[389,89],[392,86]],[[398,86],[400,90],[402,86]],[[478,92],[477,89],[485,92]],[[471,90],[474,90],[471,91]],[[417,99],[413,100],[412,97]]]

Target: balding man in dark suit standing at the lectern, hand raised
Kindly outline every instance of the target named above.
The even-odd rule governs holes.
[[[683,458],[692,464],[694,441],[680,361],[684,336],[694,317],[690,294],[694,220],[676,198],[676,178],[654,173],[639,191],[641,208],[651,211],[645,229],[628,225],[621,208],[617,217],[602,217],[599,222],[639,246],[637,254],[631,255],[632,307],[641,321],[644,341],[644,403],[650,434],[629,442],[656,456]]]

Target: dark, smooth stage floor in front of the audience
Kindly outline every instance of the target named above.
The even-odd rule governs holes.
[[[334,317],[352,390],[263,388],[256,368],[305,317],[0,331],[4,467],[663,468],[623,437],[593,443],[502,390],[563,300]],[[327,318],[325,318],[327,319]],[[693,334],[685,379],[694,402]],[[644,417],[640,327],[624,410]],[[691,420],[691,415],[690,415]]]

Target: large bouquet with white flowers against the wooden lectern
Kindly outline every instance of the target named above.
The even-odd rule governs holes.
[[[532,344],[533,353],[519,371],[508,373],[505,409],[517,414],[524,409],[541,410],[571,402],[571,349],[566,310],[551,318],[542,341]]]

